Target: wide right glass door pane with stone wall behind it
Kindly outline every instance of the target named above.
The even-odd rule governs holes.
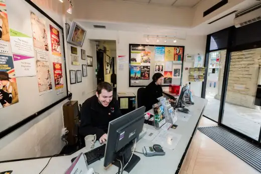
[[[261,48],[231,53],[222,124],[258,140]]]

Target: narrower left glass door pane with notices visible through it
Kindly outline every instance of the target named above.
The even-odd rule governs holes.
[[[205,95],[208,103],[203,115],[214,121],[218,121],[226,50],[210,52],[208,59]]]

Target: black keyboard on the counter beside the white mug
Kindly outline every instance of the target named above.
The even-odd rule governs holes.
[[[106,144],[103,144],[97,148],[92,149],[91,151],[84,153],[86,156],[87,164],[89,165],[89,164],[95,162],[96,160],[103,158],[104,153],[105,153],[105,147],[106,147]],[[75,158],[72,158],[71,161],[73,162]]]

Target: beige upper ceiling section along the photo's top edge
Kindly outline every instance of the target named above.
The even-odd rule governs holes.
[[[120,1],[192,8],[202,0],[120,0]]]

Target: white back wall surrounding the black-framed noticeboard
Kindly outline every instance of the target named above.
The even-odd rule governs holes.
[[[136,32],[123,32],[123,31],[107,31],[107,30],[88,30],[87,38],[92,40],[116,40],[116,53],[117,56],[126,56],[126,61],[123,65],[123,71],[118,70],[117,62],[117,92],[134,92],[137,94],[138,88],[128,87],[128,53],[129,44],[148,44],[146,38],[143,37],[143,33]],[[161,40],[159,43],[156,42],[156,38],[153,40],[150,38],[149,44],[165,45],[164,41]],[[178,40],[177,43],[173,43],[173,40],[169,40],[166,45],[179,45],[185,46],[186,54],[203,54],[205,55],[206,48],[206,36],[187,36],[186,40]],[[185,62],[183,69],[183,84],[188,83],[189,71],[185,71],[185,68],[193,66],[193,62]],[[201,97],[202,82],[193,82],[191,88],[196,96]],[[164,90],[168,90],[165,88]]]

